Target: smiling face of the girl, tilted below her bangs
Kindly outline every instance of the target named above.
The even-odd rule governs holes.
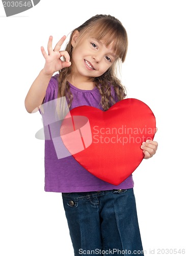
[[[115,62],[116,55],[112,44],[106,47],[103,41],[84,36],[77,42],[77,34],[72,39],[72,72],[87,78],[99,77]]]

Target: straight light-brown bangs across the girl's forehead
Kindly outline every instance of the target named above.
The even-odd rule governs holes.
[[[106,47],[113,43],[113,50],[117,58],[120,58],[122,62],[125,60],[128,40],[126,30],[121,23],[100,18],[83,29],[82,36],[87,33],[98,41],[102,40]]]

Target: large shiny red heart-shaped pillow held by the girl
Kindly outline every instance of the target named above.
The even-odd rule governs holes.
[[[123,99],[108,111],[78,106],[69,114],[60,130],[68,151],[91,174],[114,185],[139,166],[140,146],[155,134],[155,117],[138,99]]]

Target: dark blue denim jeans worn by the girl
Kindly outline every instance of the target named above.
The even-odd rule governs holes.
[[[144,255],[133,188],[62,193],[74,255]]]

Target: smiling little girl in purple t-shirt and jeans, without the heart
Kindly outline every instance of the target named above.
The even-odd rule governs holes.
[[[50,36],[48,54],[41,47],[45,65],[26,95],[26,110],[33,113],[42,103],[66,97],[70,110],[90,105],[107,111],[124,99],[126,91],[115,72],[127,52],[121,22],[95,15],[72,31],[60,51],[65,38],[53,50]],[[148,159],[157,142],[148,140],[141,148]],[[45,140],[45,191],[62,193],[75,256],[144,255],[133,187],[132,175],[115,186],[90,174],[73,156],[59,159],[52,140]]]

